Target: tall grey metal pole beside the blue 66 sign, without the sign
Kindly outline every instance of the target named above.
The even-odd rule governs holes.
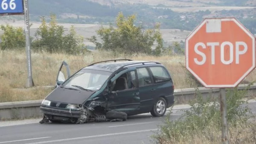
[[[34,81],[32,78],[32,66],[31,66],[31,54],[30,54],[30,34],[29,34],[29,4],[28,0],[23,0],[24,4],[24,20],[25,20],[25,36],[26,36],[26,58],[27,58],[27,69],[28,78],[26,82],[26,87],[34,86]]]

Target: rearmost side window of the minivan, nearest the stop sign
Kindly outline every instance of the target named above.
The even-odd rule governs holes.
[[[151,70],[156,83],[170,80],[170,76],[162,66],[150,66],[149,69]]]

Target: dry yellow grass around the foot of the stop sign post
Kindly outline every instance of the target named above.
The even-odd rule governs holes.
[[[256,120],[229,128],[230,144],[256,144]],[[204,131],[183,135],[180,140],[160,139],[158,144],[221,144],[221,130],[214,124]]]

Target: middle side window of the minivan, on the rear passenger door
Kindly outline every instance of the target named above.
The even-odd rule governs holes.
[[[139,80],[139,87],[140,86],[145,86],[148,84],[152,84],[150,75],[148,73],[148,69],[145,67],[143,68],[138,68],[137,69],[137,75],[138,75],[138,80]]]

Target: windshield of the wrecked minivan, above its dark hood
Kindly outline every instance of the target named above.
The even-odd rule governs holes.
[[[111,72],[81,69],[61,86],[65,88],[97,91],[102,87],[110,75]]]

